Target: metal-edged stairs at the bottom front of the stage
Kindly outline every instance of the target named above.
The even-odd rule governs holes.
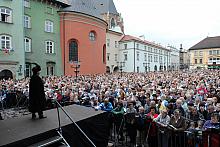
[[[61,144],[61,142],[63,142],[63,137],[54,136],[54,137],[48,138],[46,140],[43,140],[41,142],[35,143],[29,147],[46,147],[46,146],[53,147],[54,144],[58,144],[58,143],[60,143],[59,147],[67,147],[68,146],[68,145]]]

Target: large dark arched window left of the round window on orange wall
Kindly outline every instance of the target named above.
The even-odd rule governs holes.
[[[70,41],[69,61],[78,61],[78,44],[77,44],[76,40]]]

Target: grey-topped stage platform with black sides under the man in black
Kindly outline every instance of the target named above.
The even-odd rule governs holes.
[[[100,139],[103,138],[105,143],[107,142],[108,134],[103,135],[105,127],[108,127],[108,115],[103,111],[95,111],[95,109],[90,107],[84,107],[79,105],[70,105],[63,107],[69,115],[77,122],[77,124],[82,128],[83,131],[89,136],[89,138],[94,141],[97,146],[101,146]],[[69,118],[64,114],[60,109],[60,120],[61,126],[63,129],[63,136],[65,139],[70,142],[71,146],[77,144],[80,145],[80,139],[82,135],[79,135],[80,132],[77,132],[77,129],[73,126]],[[33,143],[33,140],[36,142],[36,139],[39,136],[47,136],[51,131],[55,131],[58,128],[58,116],[57,109],[51,109],[44,112],[47,116],[45,119],[31,119],[31,114],[25,115],[19,118],[10,118],[0,121],[0,146],[17,146],[21,143],[26,142],[24,145],[28,146]],[[97,123],[96,123],[97,122]],[[97,125],[96,125],[97,124]],[[101,132],[97,130],[96,132],[93,129],[103,129]],[[37,137],[38,136],[38,137]],[[80,137],[81,136],[81,137]],[[97,140],[96,137],[101,137]],[[42,138],[42,137],[40,137]],[[74,139],[73,139],[74,138]],[[29,143],[27,143],[29,140]],[[30,142],[32,140],[32,142]],[[82,139],[82,142],[85,139]],[[78,143],[77,143],[78,141]],[[75,144],[75,145],[73,145]]]

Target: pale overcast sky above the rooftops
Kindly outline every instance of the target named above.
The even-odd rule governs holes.
[[[188,49],[220,36],[220,0],[114,0],[125,34]]]

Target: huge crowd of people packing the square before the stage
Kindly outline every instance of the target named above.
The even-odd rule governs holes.
[[[54,107],[56,99],[62,104],[73,103],[111,112],[119,140],[124,139],[122,128],[126,127],[132,145],[136,144],[138,131],[142,134],[141,145],[147,138],[149,146],[157,146],[157,124],[188,131],[219,127],[219,70],[82,75],[77,80],[73,76],[42,79],[48,109]],[[18,99],[28,99],[29,80],[0,80],[1,103],[6,101],[6,107],[17,104]],[[15,104],[12,99],[16,100]]]

